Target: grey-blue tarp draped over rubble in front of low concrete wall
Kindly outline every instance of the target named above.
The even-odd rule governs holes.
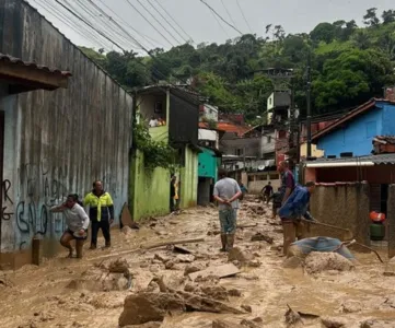
[[[351,251],[345,246],[341,245],[341,242],[336,238],[329,237],[314,237],[314,238],[304,238],[298,242],[292,243],[291,246],[297,246],[303,254],[307,255],[311,251],[334,251],[340,254],[345,258],[355,259]]]

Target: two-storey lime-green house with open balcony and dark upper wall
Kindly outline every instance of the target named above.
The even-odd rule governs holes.
[[[135,150],[131,161],[130,203],[135,220],[170,211],[170,181],[179,183],[181,208],[197,204],[199,104],[188,91],[169,85],[148,86],[138,92],[137,118],[148,125],[152,117],[162,125],[150,127],[150,136],[176,150],[172,168],[147,169],[143,153]],[[183,124],[181,124],[183,122]],[[153,201],[147,201],[153,200]]]

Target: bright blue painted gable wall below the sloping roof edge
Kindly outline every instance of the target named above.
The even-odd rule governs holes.
[[[374,107],[317,141],[317,149],[325,155],[339,156],[342,152],[352,152],[355,156],[370,155],[373,149],[372,139],[381,134],[383,110]],[[394,134],[395,130],[391,134]]]

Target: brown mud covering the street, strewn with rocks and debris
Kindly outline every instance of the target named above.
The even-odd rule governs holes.
[[[217,300],[241,314],[196,312],[187,306],[189,312],[167,313],[162,324],[136,327],[287,327],[289,307],[302,314],[294,327],[395,327],[391,323],[395,320],[395,277],[383,276],[384,265],[373,254],[355,254],[360,265],[351,271],[307,274],[302,268],[284,269],[278,247],[281,225],[270,216],[266,206],[253,199],[243,202],[239,224],[256,226],[237,230],[235,246],[241,254],[234,255],[233,263],[240,273],[220,280],[190,281],[185,276],[229,262],[228,255],[219,251],[213,208],[156,218],[139,231],[113,232],[111,249],[86,249],[82,260],[62,258],[65,253],[40,267],[0,272],[0,327],[118,327],[126,296],[160,293],[163,285]],[[262,241],[253,242],[257,233],[263,237],[255,239]],[[185,245],[191,255],[170,246],[139,249],[198,237],[205,242]],[[371,319],[387,320],[388,326]],[[224,321],[213,326],[214,320]]]

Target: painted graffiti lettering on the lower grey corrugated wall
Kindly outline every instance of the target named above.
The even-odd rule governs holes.
[[[25,163],[18,167],[15,183],[11,178],[2,181],[1,224],[14,226],[10,231],[16,231],[20,249],[27,247],[33,236],[58,238],[63,232],[63,215],[51,213],[50,208],[63,202],[74,188],[69,177],[66,164],[54,167],[48,159],[43,159],[39,164]],[[116,175],[105,174],[102,180],[113,199],[116,198]]]

